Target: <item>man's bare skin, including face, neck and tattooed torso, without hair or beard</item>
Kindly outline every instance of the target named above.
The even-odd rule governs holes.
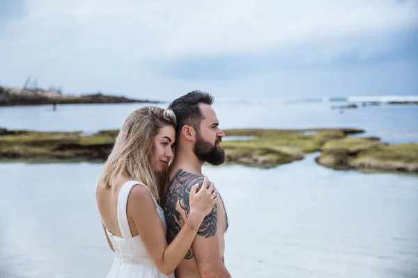
[[[213,108],[206,104],[200,105],[204,120],[200,124],[200,135],[208,142],[219,146],[219,138],[224,133],[219,129],[219,122]],[[201,167],[203,161],[193,151],[196,131],[192,126],[183,126],[180,142],[176,146],[176,157],[169,170],[169,183],[164,194],[164,212],[169,232],[167,237],[176,240],[180,227],[189,217],[189,199],[187,195],[192,185],[203,185]],[[224,233],[228,220],[222,199],[203,220],[199,233],[192,243],[192,248],[176,268],[177,278],[212,278],[231,277],[224,265],[225,241]]]

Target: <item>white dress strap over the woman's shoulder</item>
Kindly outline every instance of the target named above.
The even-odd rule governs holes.
[[[126,204],[127,204],[127,197],[129,196],[130,190],[132,187],[136,186],[137,184],[141,184],[146,189],[149,188],[139,181],[127,181],[123,184],[121,189],[119,190],[118,195],[118,222],[119,222],[119,229],[121,229],[122,238],[128,239],[132,238],[132,234],[130,233],[129,222],[127,222],[127,215],[126,215]],[[151,196],[154,199],[153,194]],[[155,199],[154,199],[155,202]]]

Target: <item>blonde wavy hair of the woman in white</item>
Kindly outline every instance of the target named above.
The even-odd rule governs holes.
[[[157,106],[145,106],[130,113],[104,163],[99,184],[111,188],[118,178],[125,176],[144,183],[160,202],[161,177],[152,164],[154,138],[164,126],[173,126],[176,130],[176,124],[173,111]]]

